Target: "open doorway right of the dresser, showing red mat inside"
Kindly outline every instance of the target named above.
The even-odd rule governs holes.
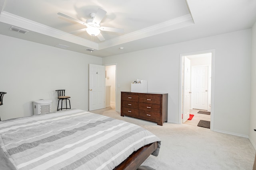
[[[180,55],[181,123],[198,125],[202,119],[213,128],[213,61],[214,50]]]

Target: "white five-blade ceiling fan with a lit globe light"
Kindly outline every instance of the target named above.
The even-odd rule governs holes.
[[[100,26],[100,22],[106,15],[106,11],[102,10],[101,8],[98,8],[98,11],[95,13],[90,13],[90,19],[86,20],[86,22],[80,21],[76,18],[73,18],[71,16],[68,16],[66,14],[63,14],[61,12],[58,12],[58,15],[68,18],[69,20],[81,23],[82,25],[85,25],[87,28],[79,29],[76,31],[71,32],[72,34],[80,33],[82,31],[86,31],[91,36],[97,36],[100,41],[104,41],[105,38],[102,36],[100,31],[110,31],[110,32],[117,32],[117,33],[123,33],[124,29],[121,28],[112,28],[112,27],[102,27]]]

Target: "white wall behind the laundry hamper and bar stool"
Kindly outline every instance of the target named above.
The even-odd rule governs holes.
[[[56,111],[58,89],[71,96],[71,108],[88,110],[88,64],[101,65],[102,58],[5,35],[0,44],[2,120],[32,115],[33,100],[52,99]]]

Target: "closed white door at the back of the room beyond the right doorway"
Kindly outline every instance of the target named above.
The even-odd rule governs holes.
[[[207,110],[208,66],[192,67],[192,108]]]

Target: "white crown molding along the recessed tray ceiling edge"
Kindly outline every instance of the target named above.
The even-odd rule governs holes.
[[[36,33],[40,33],[57,39],[62,39],[64,41],[68,41],[85,47],[94,48],[96,50],[106,49],[108,47],[113,47],[115,45],[128,43],[130,41],[135,41],[153,35],[158,35],[160,33],[165,33],[168,31],[172,31],[182,27],[187,27],[194,24],[191,14],[187,14],[144,29],[140,29],[138,31],[134,31],[132,33],[122,35],[120,37],[116,37],[100,43],[95,43],[87,39],[83,39],[70,33],[60,31],[58,29],[43,25],[41,23],[37,23],[35,21],[28,20],[26,18],[22,18],[20,16],[16,16],[5,11],[2,11],[2,13],[0,14],[0,22],[14,25],[22,29],[28,29],[30,31],[34,31]]]

